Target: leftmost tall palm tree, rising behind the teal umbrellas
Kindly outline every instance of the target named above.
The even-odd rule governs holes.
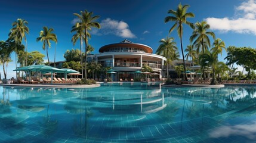
[[[26,20],[23,20],[21,18],[18,18],[17,21],[14,21],[12,24],[13,28],[10,30],[10,38],[14,38],[14,41],[16,43],[21,43],[23,38],[26,42],[26,52],[27,52],[27,38],[26,34],[29,34],[29,27],[27,27],[27,24],[29,24]],[[16,50],[16,57],[17,57],[17,50]],[[26,63],[25,66],[27,66],[27,54],[26,54]],[[17,59],[16,59],[16,68],[17,68]]]

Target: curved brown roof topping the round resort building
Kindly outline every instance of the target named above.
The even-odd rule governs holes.
[[[140,48],[143,49],[145,52],[152,54],[153,49],[150,46],[141,44],[141,43],[133,43],[131,41],[128,41],[125,39],[124,41],[121,41],[120,43],[111,43],[109,45],[101,46],[100,49],[98,49],[98,52],[104,52],[108,48],[112,47],[131,47],[131,48]]]

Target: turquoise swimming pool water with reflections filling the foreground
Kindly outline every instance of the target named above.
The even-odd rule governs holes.
[[[256,86],[0,86],[0,142],[254,142]]]

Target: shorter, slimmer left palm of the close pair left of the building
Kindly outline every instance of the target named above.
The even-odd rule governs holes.
[[[82,46],[83,46],[83,39],[85,39],[85,35],[83,32],[83,29],[81,26],[79,26],[79,23],[76,23],[74,26],[72,26],[71,32],[76,32],[73,36],[71,41],[73,42],[73,45],[76,44],[76,41],[80,41],[80,64],[83,70],[83,64],[82,64]],[[84,72],[82,72],[82,78],[84,78]]]

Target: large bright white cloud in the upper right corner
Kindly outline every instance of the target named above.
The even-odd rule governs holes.
[[[206,22],[210,24],[211,29],[220,30],[220,32],[233,31],[236,33],[251,33],[256,35],[256,0],[242,2],[236,7],[236,18],[215,18],[208,17]]]

